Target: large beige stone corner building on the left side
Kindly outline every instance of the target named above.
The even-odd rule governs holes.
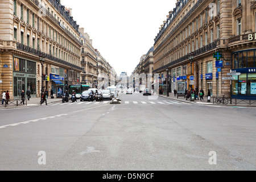
[[[60,96],[80,83],[79,25],[59,0],[3,0],[0,15],[1,92],[40,97],[43,87]]]

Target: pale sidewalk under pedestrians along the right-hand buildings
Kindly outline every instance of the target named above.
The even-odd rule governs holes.
[[[195,101],[190,101],[190,99],[186,100],[186,98],[184,98],[184,96],[179,96],[177,98],[177,95],[176,97],[174,96],[174,93],[170,93],[169,94],[170,96],[167,97],[166,95],[159,95],[159,97],[164,97],[164,98],[169,98],[169,99],[172,99],[172,100],[176,100],[176,101],[181,101],[181,102],[188,102],[188,103],[191,103],[191,104],[200,104],[200,105],[216,105],[216,106],[237,106],[237,107],[256,107],[256,103],[253,104],[253,105],[249,105],[249,104],[246,104],[246,103],[240,103],[240,104],[227,104],[227,105],[223,105],[223,104],[213,104],[213,98],[211,97],[210,98],[210,102],[207,102],[207,97],[204,97],[204,100],[200,101],[200,97],[199,97],[199,100],[195,100]],[[237,100],[237,102],[241,102],[241,100]]]

